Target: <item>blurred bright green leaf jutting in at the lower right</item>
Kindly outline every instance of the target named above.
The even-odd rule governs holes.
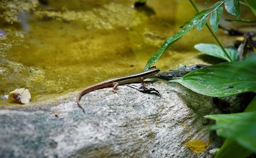
[[[207,115],[205,118],[216,120],[218,136],[231,138],[238,144],[256,152],[256,112],[238,114]]]

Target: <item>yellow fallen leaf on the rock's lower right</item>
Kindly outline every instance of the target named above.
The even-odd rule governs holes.
[[[210,139],[208,139],[207,143],[204,140],[190,140],[185,143],[186,147],[191,149],[194,153],[199,153],[205,150],[207,146],[210,144]]]

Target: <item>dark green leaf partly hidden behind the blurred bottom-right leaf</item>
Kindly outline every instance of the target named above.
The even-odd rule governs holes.
[[[244,112],[256,112],[256,97],[250,102]],[[225,158],[225,157],[240,157],[245,158],[251,154],[251,151],[239,145],[236,141],[231,138],[226,139],[226,141],[221,146],[220,150],[217,152],[215,157]]]

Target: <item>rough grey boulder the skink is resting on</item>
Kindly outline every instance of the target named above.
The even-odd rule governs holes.
[[[0,157],[212,157],[207,151],[222,144],[203,118],[220,112],[212,98],[178,83],[146,86],[162,97],[122,85],[116,94],[104,88],[83,96],[86,114],[76,93],[40,105],[1,107]],[[184,145],[208,138],[210,145],[198,154]]]

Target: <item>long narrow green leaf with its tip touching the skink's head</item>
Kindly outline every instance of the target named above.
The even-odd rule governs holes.
[[[212,5],[210,8],[202,10],[201,12],[196,13],[196,15],[185,22],[183,29],[177,32],[172,37],[167,38],[160,49],[147,61],[146,66],[144,67],[143,71],[148,70],[148,68],[155,62],[158,61],[158,59],[161,57],[161,55],[170,47],[172,46],[178,39],[180,39],[183,35],[185,35],[189,30],[193,29],[197,26],[199,22],[202,22],[203,19],[205,19],[209,14],[211,14],[212,11],[216,10],[218,7],[220,7],[224,1],[219,1],[216,4]],[[207,13],[209,9],[214,8],[211,12]]]

